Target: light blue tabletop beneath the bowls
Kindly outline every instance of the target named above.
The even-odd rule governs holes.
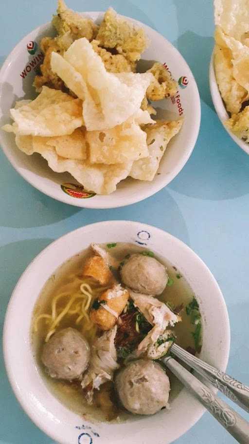
[[[105,10],[110,5],[109,0],[68,3],[79,11]],[[50,20],[55,1],[3,0],[1,4],[2,62],[22,37]],[[166,188],[143,202],[113,210],[78,209],[46,197],[24,182],[0,152],[0,323],[21,273],[54,239],[92,222],[141,221],[190,245],[213,272],[231,321],[228,372],[249,384],[249,157],[225,132],[211,101],[208,69],[213,48],[212,1],[115,0],[111,5],[159,31],[189,63],[202,108],[195,150]],[[0,412],[0,444],[52,444],[18,405],[2,356]],[[177,443],[230,444],[235,440],[206,413]]]

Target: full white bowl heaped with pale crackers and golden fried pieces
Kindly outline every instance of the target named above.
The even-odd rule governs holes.
[[[89,208],[139,202],[187,162],[200,125],[193,74],[150,27],[58,0],[0,71],[0,142],[46,195]]]

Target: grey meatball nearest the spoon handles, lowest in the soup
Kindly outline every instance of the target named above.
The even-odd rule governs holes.
[[[167,405],[169,378],[158,363],[140,359],[128,364],[115,379],[120,401],[131,413],[153,415]]]

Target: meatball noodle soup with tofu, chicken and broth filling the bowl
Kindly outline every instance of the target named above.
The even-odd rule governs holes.
[[[34,309],[46,384],[91,421],[154,414],[181,385],[160,362],[176,341],[200,351],[201,318],[183,276],[131,243],[92,244],[59,267]]]

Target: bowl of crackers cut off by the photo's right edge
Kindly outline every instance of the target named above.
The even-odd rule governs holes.
[[[249,9],[246,0],[215,0],[210,89],[220,121],[249,154]]]

